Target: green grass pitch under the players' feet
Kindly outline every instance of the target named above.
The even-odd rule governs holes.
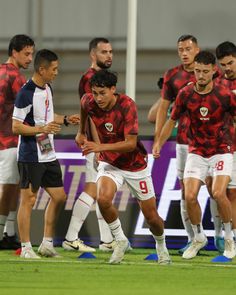
[[[25,260],[13,251],[0,251],[1,295],[127,294],[191,295],[235,294],[236,259],[212,263],[214,251],[201,251],[184,260],[170,251],[172,264],[145,260],[154,249],[134,249],[120,265],[109,265],[110,253],[95,252],[96,259],[78,259],[80,253],[58,248],[60,258]]]

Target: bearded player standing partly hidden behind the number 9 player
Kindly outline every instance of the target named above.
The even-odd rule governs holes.
[[[108,39],[103,37],[94,38],[89,43],[89,53],[91,59],[91,66],[86,73],[83,74],[79,82],[79,96],[80,98],[85,93],[90,93],[91,88],[89,81],[91,77],[101,69],[108,69],[112,65],[113,51],[112,46]],[[86,129],[88,139],[98,141],[96,128],[91,119],[88,118],[88,128]],[[86,181],[84,191],[80,194],[76,200],[70,225],[67,230],[62,246],[66,250],[78,250],[80,252],[94,252],[95,249],[84,244],[84,242],[78,238],[80,229],[88,216],[91,206],[96,200],[96,156],[95,153],[86,155]],[[100,231],[100,245],[99,249],[103,251],[112,251],[114,248],[114,241],[111,235],[111,231],[104,220],[98,204],[96,202],[96,214],[98,218],[98,225]]]

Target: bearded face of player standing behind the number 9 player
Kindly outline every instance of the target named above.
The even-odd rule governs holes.
[[[94,50],[96,64],[100,69],[108,69],[112,65],[113,52],[110,43],[98,43]]]

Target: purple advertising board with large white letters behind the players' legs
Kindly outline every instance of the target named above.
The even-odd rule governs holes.
[[[160,216],[165,221],[165,234],[169,248],[179,248],[186,242],[186,232],[180,216],[181,192],[176,173],[175,141],[168,141],[161,152],[161,157],[154,160],[151,155],[153,141],[142,140],[148,151],[148,165],[152,171],[152,178],[157,197],[157,206]],[[67,201],[60,213],[57,228],[56,242],[64,239],[75,200],[83,191],[85,183],[85,158],[76,146],[73,139],[55,139],[57,158],[60,161]],[[203,214],[203,226],[208,237],[214,236],[213,223],[210,217],[209,197],[206,187],[200,190],[198,199]],[[43,214],[48,204],[49,196],[41,189],[33,212],[32,241],[38,244],[43,232]],[[124,185],[116,193],[114,205],[119,210],[120,219],[126,235],[133,247],[154,247],[154,241],[145,223],[143,214],[128,187]],[[86,219],[79,234],[87,243],[97,246],[99,243],[99,230],[95,213],[95,205]],[[212,248],[212,238],[209,239],[209,249]]]

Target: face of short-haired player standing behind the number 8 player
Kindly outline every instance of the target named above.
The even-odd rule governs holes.
[[[199,52],[199,47],[192,40],[181,41],[178,43],[178,54],[184,66],[192,65],[194,57]]]

